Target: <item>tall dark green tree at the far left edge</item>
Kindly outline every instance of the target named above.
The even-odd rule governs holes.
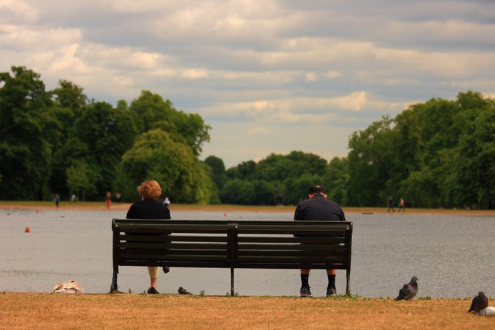
[[[50,195],[52,147],[61,122],[45,84],[25,67],[0,73],[0,198],[43,199]]]

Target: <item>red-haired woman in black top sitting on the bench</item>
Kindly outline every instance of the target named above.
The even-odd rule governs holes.
[[[126,219],[171,219],[168,207],[158,201],[159,196],[162,195],[162,188],[157,181],[144,181],[137,187],[137,192],[140,194],[141,201],[131,205]],[[163,267],[163,270],[165,273],[170,271],[168,267]],[[148,274],[150,276],[148,294],[159,294],[157,290],[159,267],[148,267]]]

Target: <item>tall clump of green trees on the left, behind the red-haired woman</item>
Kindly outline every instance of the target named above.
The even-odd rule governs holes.
[[[110,191],[133,200],[153,178],[175,201],[210,201],[213,182],[198,160],[210,126],[197,113],[151,91],[113,107],[67,80],[47,91],[36,72],[11,69],[0,73],[0,199],[100,200]]]

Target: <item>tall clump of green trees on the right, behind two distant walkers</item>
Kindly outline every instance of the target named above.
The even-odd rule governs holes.
[[[375,206],[395,195],[410,206],[492,208],[494,127],[494,100],[472,91],[371,124],[349,142],[350,202]]]

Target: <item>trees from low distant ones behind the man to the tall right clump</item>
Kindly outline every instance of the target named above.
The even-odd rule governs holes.
[[[495,207],[495,101],[473,91],[456,100],[432,98],[395,118],[385,115],[349,139],[347,157],[326,162],[293,151],[225,170],[205,159],[221,200],[294,204],[314,183],[344,206]]]

